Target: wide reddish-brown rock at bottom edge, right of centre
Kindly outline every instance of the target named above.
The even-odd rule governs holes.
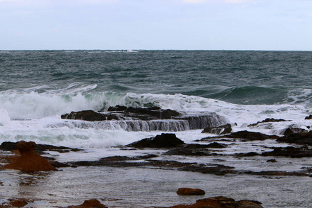
[[[235,201],[224,196],[197,200],[193,205],[177,205],[169,208],[263,208],[261,202],[254,200]]]

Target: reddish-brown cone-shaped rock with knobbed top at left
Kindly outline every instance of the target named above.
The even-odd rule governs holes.
[[[17,142],[17,150],[20,156],[16,157],[10,164],[3,166],[3,168],[16,169],[25,172],[34,171],[56,171],[44,157],[35,153],[35,142],[33,141],[19,141]]]

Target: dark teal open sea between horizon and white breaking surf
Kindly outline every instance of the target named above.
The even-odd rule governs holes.
[[[184,94],[237,104],[312,101],[310,51],[1,51],[0,92]]]

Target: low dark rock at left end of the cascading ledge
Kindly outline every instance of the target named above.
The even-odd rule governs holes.
[[[107,120],[119,120],[119,117],[114,114],[102,114],[94,112],[93,110],[83,110],[80,112],[71,112],[69,114],[63,114],[62,119],[75,119],[84,121],[107,121]]]

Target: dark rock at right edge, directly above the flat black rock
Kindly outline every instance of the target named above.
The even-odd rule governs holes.
[[[280,137],[276,141],[285,142],[290,144],[302,144],[312,146],[312,131],[306,133],[291,134],[288,136]]]

